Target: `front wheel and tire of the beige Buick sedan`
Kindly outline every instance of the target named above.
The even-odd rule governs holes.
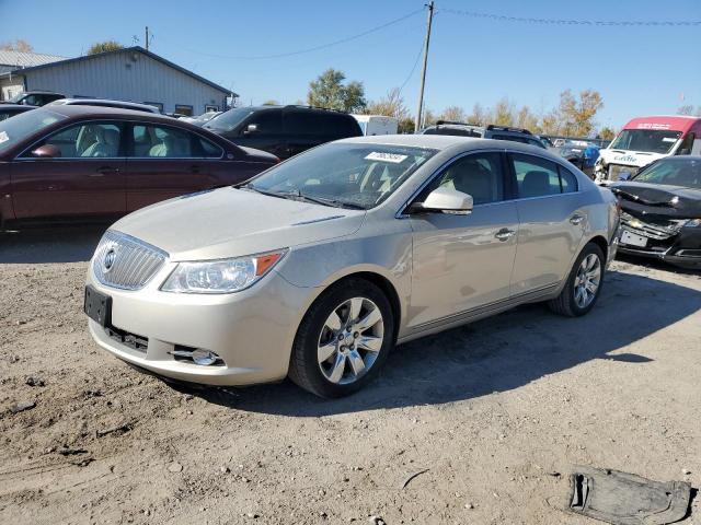
[[[389,300],[365,279],[332,285],[302,319],[289,377],[321,397],[343,397],[372,381],[394,346]]]

